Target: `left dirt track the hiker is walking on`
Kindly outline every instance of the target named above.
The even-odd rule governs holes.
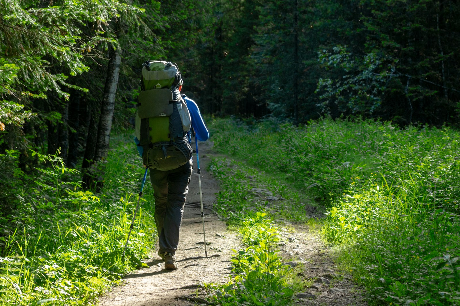
[[[194,144],[192,144],[194,147]],[[101,296],[101,306],[169,306],[193,305],[193,302],[175,299],[188,295],[195,289],[181,289],[185,286],[200,283],[219,283],[228,276],[232,248],[238,248],[240,241],[235,232],[228,232],[224,221],[219,221],[217,215],[212,215],[209,208],[213,206],[218,191],[217,182],[207,173],[209,162],[207,152],[212,145],[210,142],[199,143],[201,190],[205,207],[205,231],[208,258],[190,259],[205,255],[203,242],[203,225],[201,222],[200,189],[196,160],[189,184],[189,194],[185,202],[184,216],[180,231],[179,247],[176,252],[178,270],[169,271],[164,268],[164,261],[156,255],[144,262],[149,266],[128,274],[124,282],[112,292]],[[146,183],[146,188],[151,188]],[[213,256],[213,257],[212,257]]]

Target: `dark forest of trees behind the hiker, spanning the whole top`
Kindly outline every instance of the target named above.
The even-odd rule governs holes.
[[[458,16],[455,0],[2,0],[0,153],[27,173],[29,149],[58,151],[94,184],[148,59],[176,62],[205,114],[456,126]]]

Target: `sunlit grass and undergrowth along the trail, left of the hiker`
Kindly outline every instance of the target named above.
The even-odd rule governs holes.
[[[129,142],[129,143],[127,143]],[[153,192],[145,191],[122,252],[143,175],[128,135],[112,137],[104,185],[81,189],[78,171],[54,155],[37,158],[36,172],[18,168],[18,155],[0,155],[9,176],[1,184],[9,207],[0,219],[0,305],[94,305],[97,296],[123,275],[145,265],[153,247]]]

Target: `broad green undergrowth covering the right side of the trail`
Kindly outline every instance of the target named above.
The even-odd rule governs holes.
[[[370,303],[460,304],[458,131],[362,119],[299,127],[271,120],[208,123],[214,147],[246,160],[254,173],[270,174],[267,186],[278,186],[278,194],[322,205],[322,237],[340,268],[366,286]],[[247,178],[240,176],[224,179],[231,185]],[[240,189],[223,199],[230,209],[217,208],[230,220],[241,219],[241,211],[272,210],[272,219],[305,221],[305,199],[275,210],[251,207],[245,194],[253,187],[235,185]]]

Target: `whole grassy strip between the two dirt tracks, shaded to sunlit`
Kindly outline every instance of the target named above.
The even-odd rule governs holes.
[[[256,173],[227,159],[213,159],[210,169],[220,187],[214,209],[238,228],[246,247],[233,249],[232,270],[226,283],[205,285],[212,293],[209,300],[224,306],[291,305],[293,289],[286,278],[291,268],[278,255],[279,227],[265,212],[270,210],[267,204],[254,203],[254,194],[250,192],[261,183],[254,179]],[[253,177],[252,183],[247,176]]]

